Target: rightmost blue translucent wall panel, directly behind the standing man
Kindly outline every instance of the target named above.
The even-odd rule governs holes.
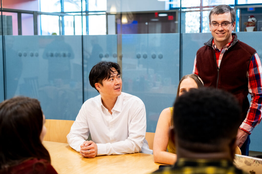
[[[252,46],[256,49],[260,61],[262,58],[261,38],[262,32],[236,32],[240,41]],[[183,45],[182,45],[182,74],[190,74],[193,71],[194,58],[196,51],[203,46],[212,37],[211,33],[183,33]],[[250,95],[248,96],[250,100]],[[254,128],[250,139],[250,151],[262,152],[262,125],[258,125]]]

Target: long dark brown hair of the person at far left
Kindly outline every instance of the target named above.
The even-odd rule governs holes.
[[[42,127],[37,99],[14,97],[0,103],[0,173],[30,158],[51,161],[40,140]]]

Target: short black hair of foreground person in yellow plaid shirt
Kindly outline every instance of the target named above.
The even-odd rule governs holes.
[[[187,148],[217,146],[236,137],[241,110],[231,93],[214,88],[192,89],[176,99],[173,121],[178,139],[186,142]]]

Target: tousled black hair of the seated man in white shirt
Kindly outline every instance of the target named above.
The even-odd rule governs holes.
[[[114,62],[101,61],[97,63],[90,71],[89,82],[90,85],[96,89],[95,83],[100,83],[103,86],[102,81],[109,79],[112,73],[114,73],[113,68],[116,69],[117,73],[121,74],[120,66]],[[97,90],[97,89],[96,89]],[[97,90],[97,92],[99,92]]]

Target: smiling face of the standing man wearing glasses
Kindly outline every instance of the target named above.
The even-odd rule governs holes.
[[[213,14],[211,15],[210,23],[216,22],[216,23],[223,23],[223,22],[232,22],[231,21],[231,15],[230,13],[224,13],[224,14]],[[232,40],[232,31],[235,28],[236,22],[231,23],[227,27],[222,27],[219,25],[217,28],[214,28],[209,23],[209,30],[211,31],[212,36],[214,37],[214,42],[216,46],[225,46],[226,44],[230,43]]]

